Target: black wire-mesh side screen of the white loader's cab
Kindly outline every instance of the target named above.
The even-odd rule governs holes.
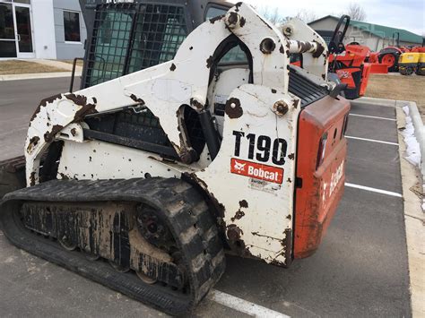
[[[100,4],[84,87],[171,60],[186,36],[181,6]]]

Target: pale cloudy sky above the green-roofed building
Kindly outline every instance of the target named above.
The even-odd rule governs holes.
[[[340,15],[350,3],[355,3],[365,9],[367,22],[410,30],[425,36],[425,0],[244,0],[244,2],[280,8],[282,16],[293,16],[301,9],[311,10],[319,18],[328,14]]]

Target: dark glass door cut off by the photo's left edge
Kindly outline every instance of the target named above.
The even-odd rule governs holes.
[[[17,57],[13,4],[0,3],[0,58]]]

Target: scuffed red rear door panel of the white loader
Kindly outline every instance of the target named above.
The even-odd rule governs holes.
[[[343,197],[350,103],[326,97],[299,115],[294,258],[313,254]],[[318,166],[318,167],[317,167]]]

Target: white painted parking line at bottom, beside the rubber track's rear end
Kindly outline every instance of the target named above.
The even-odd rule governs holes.
[[[289,318],[286,314],[275,312],[272,309],[265,308],[261,305],[248,302],[247,300],[239,297],[234,297],[229,294],[223,293],[219,290],[212,289],[207,298],[220,304],[225,305],[231,309],[237,310],[240,313],[249,314],[253,317],[267,317],[267,318]]]

